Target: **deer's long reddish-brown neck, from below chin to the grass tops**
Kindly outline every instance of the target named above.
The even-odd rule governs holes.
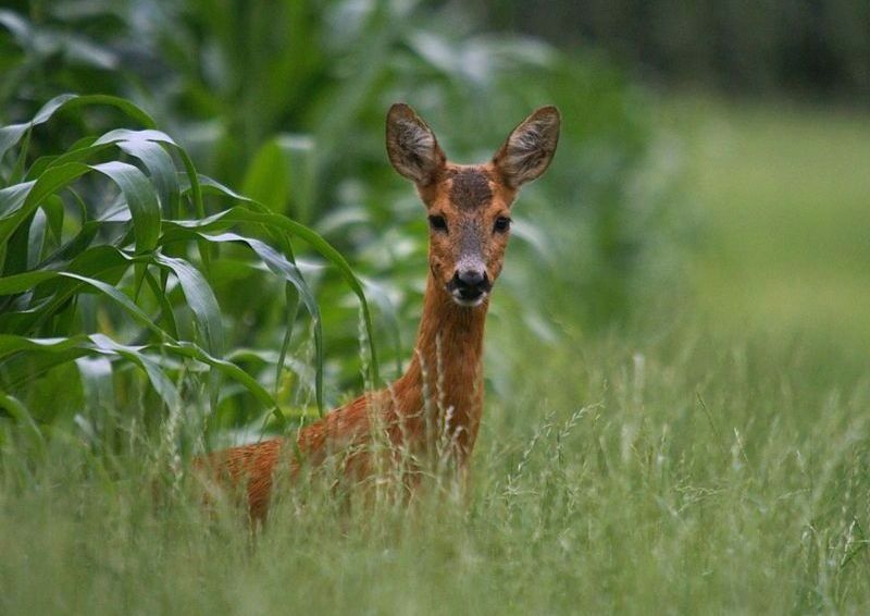
[[[483,411],[483,334],[488,298],[458,306],[430,274],[408,370],[396,382],[399,414],[434,414],[470,453]]]

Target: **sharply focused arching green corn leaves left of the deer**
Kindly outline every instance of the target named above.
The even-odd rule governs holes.
[[[61,153],[28,162],[28,144],[40,125],[107,104],[144,128],[83,137]],[[133,401],[114,392],[128,390],[130,379],[147,380],[157,396],[145,405],[146,422],[162,417],[161,408],[172,417],[199,403],[199,386],[208,389],[217,424],[229,411],[241,411],[248,421],[271,411],[283,422],[274,396],[285,378],[297,298],[312,319],[312,386],[322,411],[320,310],[294,261],[291,238],[333,263],[357,294],[369,332],[370,378],[378,381],[369,308],[340,254],[308,227],[198,175],[187,152],[130,102],[63,95],[33,121],[0,128],[0,386],[8,414],[28,429],[34,418],[82,418],[74,408],[49,415],[39,401],[45,389],[78,389],[83,408],[123,416],[116,408]],[[207,205],[209,193],[237,205]],[[253,276],[269,272],[277,279],[276,291],[284,286],[276,293],[285,299],[284,306],[276,301],[286,318],[284,344],[261,367],[259,380],[228,359],[239,341],[225,340],[225,323],[234,316],[215,293],[225,287],[228,268]],[[78,369],[77,387],[69,366]],[[141,373],[125,370],[129,366]],[[277,379],[271,383],[275,393],[268,374]],[[27,410],[30,402],[37,403],[35,415]]]

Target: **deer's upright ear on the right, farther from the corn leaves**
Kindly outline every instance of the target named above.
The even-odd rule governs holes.
[[[542,107],[511,132],[493,158],[509,186],[519,188],[547,170],[559,143],[560,123],[558,109]]]

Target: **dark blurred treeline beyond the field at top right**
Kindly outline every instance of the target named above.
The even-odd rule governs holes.
[[[498,28],[594,46],[646,76],[730,91],[870,95],[868,0],[477,0]]]

